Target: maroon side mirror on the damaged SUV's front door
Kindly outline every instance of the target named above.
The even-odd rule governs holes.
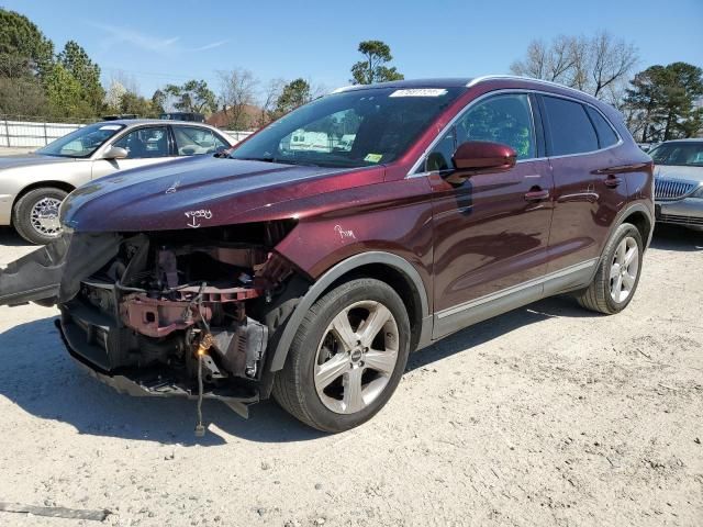
[[[502,143],[468,141],[461,143],[451,157],[454,172],[450,182],[462,182],[470,176],[484,172],[505,172],[515,166],[517,153]]]

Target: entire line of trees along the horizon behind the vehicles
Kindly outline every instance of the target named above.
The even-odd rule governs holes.
[[[350,68],[352,83],[403,79],[384,42],[364,41],[358,52],[361,59]],[[599,32],[535,40],[511,71],[577,88],[613,104],[637,141],[702,135],[703,70],[673,63],[636,71],[638,63],[632,43]],[[216,78],[216,92],[207,81],[192,79],[166,85],[145,98],[136,81],[121,72],[103,88],[100,66],[78,43],[69,41],[55,53],[54,43],[26,16],[0,8],[0,114],[96,119],[182,111],[216,113],[222,127],[250,130],[326,91],[304,78],[263,82],[243,68],[217,71]]]

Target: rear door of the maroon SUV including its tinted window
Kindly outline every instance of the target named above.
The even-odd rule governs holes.
[[[616,144],[618,137],[612,130],[607,134],[606,128],[599,137],[593,121],[603,116],[576,99],[543,94],[540,108],[555,178],[547,272],[566,271],[571,282],[588,280],[612,222],[627,201],[624,179],[610,170],[616,160],[607,145]],[[606,122],[596,123],[610,128]],[[562,282],[563,287],[572,284]]]

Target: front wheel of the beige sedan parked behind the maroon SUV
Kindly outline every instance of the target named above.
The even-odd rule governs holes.
[[[36,245],[55,240],[60,235],[58,206],[67,195],[53,187],[30,190],[12,210],[12,225],[18,234]]]

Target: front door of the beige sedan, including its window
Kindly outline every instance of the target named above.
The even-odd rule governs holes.
[[[112,146],[127,150],[124,159],[98,159],[92,165],[92,179],[101,178],[118,170],[144,167],[176,159],[170,146],[168,126],[143,126],[127,132]]]

